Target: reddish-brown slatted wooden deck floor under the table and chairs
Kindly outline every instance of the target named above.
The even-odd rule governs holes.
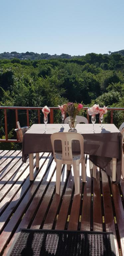
[[[124,256],[124,181],[114,185],[105,172],[92,178],[86,156],[87,182],[80,178],[74,195],[72,172],[62,167],[60,195],[55,193],[56,164],[40,153],[40,168],[29,180],[29,159],[21,151],[0,150],[0,255],[6,255],[20,228],[94,230],[114,233],[116,255]],[[91,177],[90,177],[91,176]]]

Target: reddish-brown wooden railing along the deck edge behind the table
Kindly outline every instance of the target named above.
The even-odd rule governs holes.
[[[27,111],[27,126],[29,126],[29,110],[37,110],[38,111],[38,123],[40,124],[40,111],[42,110],[43,107],[3,107],[1,106],[0,109],[4,110],[4,119],[5,119],[5,138],[6,139],[0,139],[0,142],[19,142],[18,136],[17,139],[8,139],[8,123],[7,123],[7,109],[12,109],[15,110],[15,117],[16,117],[16,122],[18,121],[18,110],[26,110]],[[54,110],[59,109],[59,107],[50,107],[50,123],[53,124],[54,123]],[[88,107],[84,107],[83,109],[85,109],[87,111]],[[113,123],[113,111],[116,110],[123,110],[124,108],[107,108],[107,110],[111,111],[111,124]],[[87,112],[87,119],[89,122],[89,115]],[[15,124],[15,127],[16,124]]]

